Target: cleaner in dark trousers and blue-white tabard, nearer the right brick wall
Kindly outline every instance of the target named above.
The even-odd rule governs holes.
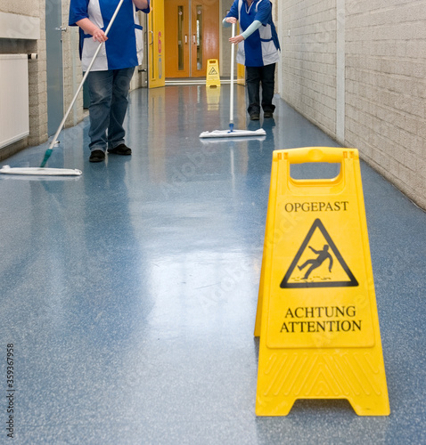
[[[273,117],[275,63],[279,60],[280,43],[272,20],[272,4],[269,0],[234,0],[223,23],[229,27],[237,20],[242,34],[229,41],[238,44],[237,62],[246,67],[250,119],[258,120],[261,108],[264,117]]]

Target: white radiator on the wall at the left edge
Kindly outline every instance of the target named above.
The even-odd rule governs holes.
[[[0,148],[29,135],[27,54],[0,54]]]

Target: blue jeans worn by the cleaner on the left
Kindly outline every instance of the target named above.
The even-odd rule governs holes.
[[[89,148],[106,151],[124,143],[123,128],[127,113],[127,95],[135,67],[91,71],[87,78],[90,96]],[[107,136],[108,131],[108,136]]]

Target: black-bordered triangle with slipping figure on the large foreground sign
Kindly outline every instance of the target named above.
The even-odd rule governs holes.
[[[309,243],[312,243],[312,239],[315,235],[315,230],[318,229],[323,235],[323,240],[327,244],[322,244],[321,250],[315,250]],[[320,239],[320,237],[317,237]],[[315,246],[316,247],[316,246]],[[307,255],[307,249],[310,249],[309,255]],[[338,264],[333,262],[334,255]],[[299,264],[300,259],[302,262]],[[306,261],[304,261],[306,260]],[[328,262],[327,262],[328,260]],[[312,274],[315,269],[319,270],[322,264],[328,263],[328,270],[330,272],[329,276],[324,277],[320,275]],[[340,274],[338,279],[333,280],[332,268],[336,269],[336,266],[340,268]],[[324,266],[323,266],[324,268]],[[303,277],[295,277],[294,272],[300,271]],[[312,274],[312,275],[311,275]],[[358,286],[358,281],[354,277],[354,274],[348,268],[348,264],[345,262],[343,257],[336,245],[334,244],[332,237],[329,235],[328,231],[325,230],[324,224],[319,219],[315,219],[312,227],[307,232],[307,236],[304,239],[302,245],[299,248],[298,253],[294,257],[289,270],[286,272],[280,287],[282,288],[294,288],[294,287],[352,287]]]

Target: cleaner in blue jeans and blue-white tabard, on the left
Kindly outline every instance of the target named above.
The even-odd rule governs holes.
[[[150,0],[124,0],[108,36],[105,29],[119,0],[70,0],[69,25],[79,27],[79,50],[86,71],[99,44],[103,44],[86,77],[90,97],[90,162],[101,162],[105,152],[131,155],[125,144],[124,118],[135,67],[143,57],[142,27],[136,11],[150,12]]]

